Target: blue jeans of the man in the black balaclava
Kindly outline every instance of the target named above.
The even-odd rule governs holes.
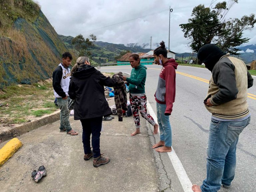
[[[207,177],[201,185],[203,192],[216,192],[221,184],[231,185],[236,169],[236,145],[239,134],[250,123],[211,120],[207,144]]]

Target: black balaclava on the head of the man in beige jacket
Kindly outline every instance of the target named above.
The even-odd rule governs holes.
[[[214,65],[224,55],[226,55],[226,53],[223,52],[217,45],[206,44],[199,49],[197,58],[205,64],[207,69],[212,72]]]

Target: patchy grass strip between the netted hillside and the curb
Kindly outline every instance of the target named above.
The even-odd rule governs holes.
[[[103,73],[112,76],[113,73]],[[0,127],[36,120],[59,110],[54,104],[52,80],[12,85],[0,90]]]

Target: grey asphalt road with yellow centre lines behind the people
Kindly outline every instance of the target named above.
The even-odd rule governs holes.
[[[147,65],[146,95],[156,113],[154,93],[161,66]],[[130,73],[130,66],[101,67],[102,72],[122,71]],[[208,89],[211,72],[207,69],[178,66],[176,71],[176,100],[170,117],[173,131],[173,148],[180,159],[190,181],[201,184],[206,177],[206,145],[211,114],[205,109],[203,100]],[[254,83],[256,84],[256,77]],[[255,191],[256,185],[256,86],[248,90],[251,124],[240,135],[237,145],[236,176],[233,192]],[[177,181],[177,175],[167,155],[163,155],[169,178]],[[174,185],[180,189],[180,183]],[[221,188],[220,191],[231,191]]]

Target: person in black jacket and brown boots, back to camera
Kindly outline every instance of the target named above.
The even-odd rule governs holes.
[[[116,78],[104,76],[91,66],[88,57],[79,57],[71,70],[69,96],[75,99],[74,119],[80,120],[83,127],[84,160],[94,157],[93,166],[107,164],[109,157],[100,153],[100,131],[102,117],[112,114],[104,94],[104,85],[112,87]],[[92,148],[90,136],[92,134]]]

